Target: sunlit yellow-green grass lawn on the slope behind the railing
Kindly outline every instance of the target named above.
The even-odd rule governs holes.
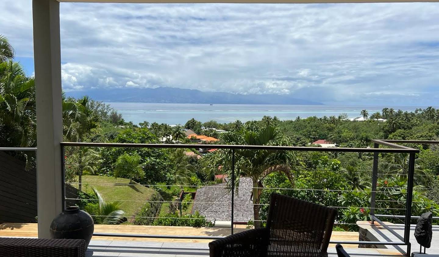
[[[126,212],[125,216],[134,216],[145,202],[148,201],[151,195],[157,191],[151,188],[140,185],[114,185],[114,184],[128,184],[129,179],[104,177],[104,176],[91,176],[84,175],[82,191],[93,194],[93,188],[96,188],[104,198],[104,200],[119,200],[122,202],[121,209]],[[78,181],[78,177],[76,177]],[[99,185],[95,185],[99,184]],[[105,185],[102,185],[105,184]],[[77,185],[76,185],[77,188]],[[140,202],[129,202],[126,200],[136,200]]]

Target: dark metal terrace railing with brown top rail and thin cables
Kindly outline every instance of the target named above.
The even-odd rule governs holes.
[[[411,205],[413,197],[413,181],[414,181],[414,160],[415,154],[420,152],[418,149],[409,148],[395,143],[411,143],[412,141],[390,141],[390,140],[373,140],[374,148],[322,148],[322,147],[300,147],[300,146],[269,146],[269,145],[200,145],[200,144],[125,144],[125,143],[85,143],[85,142],[61,142],[61,159],[62,159],[62,206],[65,206],[65,147],[120,147],[120,148],[202,148],[202,149],[230,149],[231,150],[231,221],[230,232],[234,233],[234,182],[235,182],[235,150],[274,150],[274,151],[311,151],[311,152],[367,152],[374,153],[374,161],[372,168],[372,190],[371,190],[371,206],[370,217],[371,222],[377,222],[381,226],[389,230],[396,238],[400,239],[400,242],[370,242],[370,241],[330,241],[330,243],[340,244],[358,244],[358,245],[405,245],[407,246],[407,254],[410,254],[410,220],[411,220]],[[435,143],[438,143],[435,141]],[[385,146],[386,148],[379,148],[379,146]],[[377,180],[378,180],[378,157],[379,153],[407,153],[409,154],[409,170],[408,170],[408,182],[407,182],[407,195],[406,195],[406,208],[404,223],[404,235],[400,236],[391,227],[382,222],[378,217],[381,214],[375,214],[376,206],[376,193],[377,193]],[[312,190],[312,189],[303,189]],[[338,190],[340,191],[340,190]],[[345,190],[341,190],[345,191]],[[338,206],[339,207],[339,206]],[[404,209],[401,209],[404,210]],[[384,217],[381,215],[381,217]],[[398,217],[393,215],[393,217]],[[119,233],[97,233],[96,236],[116,236],[116,237],[137,237],[137,238],[163,238],[163,239],[219,239],[223,237],[218,236],[194,236],[194,235],[139,235],[139,234],[119,234]]]

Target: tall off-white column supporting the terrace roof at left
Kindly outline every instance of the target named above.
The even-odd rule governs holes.
[[[38,237],[61,212],[61,47],[59,2],[33,0],[36,87]]]

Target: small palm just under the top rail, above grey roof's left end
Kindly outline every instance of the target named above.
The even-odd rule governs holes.
[[[189,163],[184,152],[184,149],[178,148],[171,154],[170,158],[174,163],[173,181],[177,185],[187,185],[194,171],[194,167]]]

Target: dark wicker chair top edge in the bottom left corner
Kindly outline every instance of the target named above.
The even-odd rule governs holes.
[[[2,257],[85,257],[83,239],[0,238]]]

